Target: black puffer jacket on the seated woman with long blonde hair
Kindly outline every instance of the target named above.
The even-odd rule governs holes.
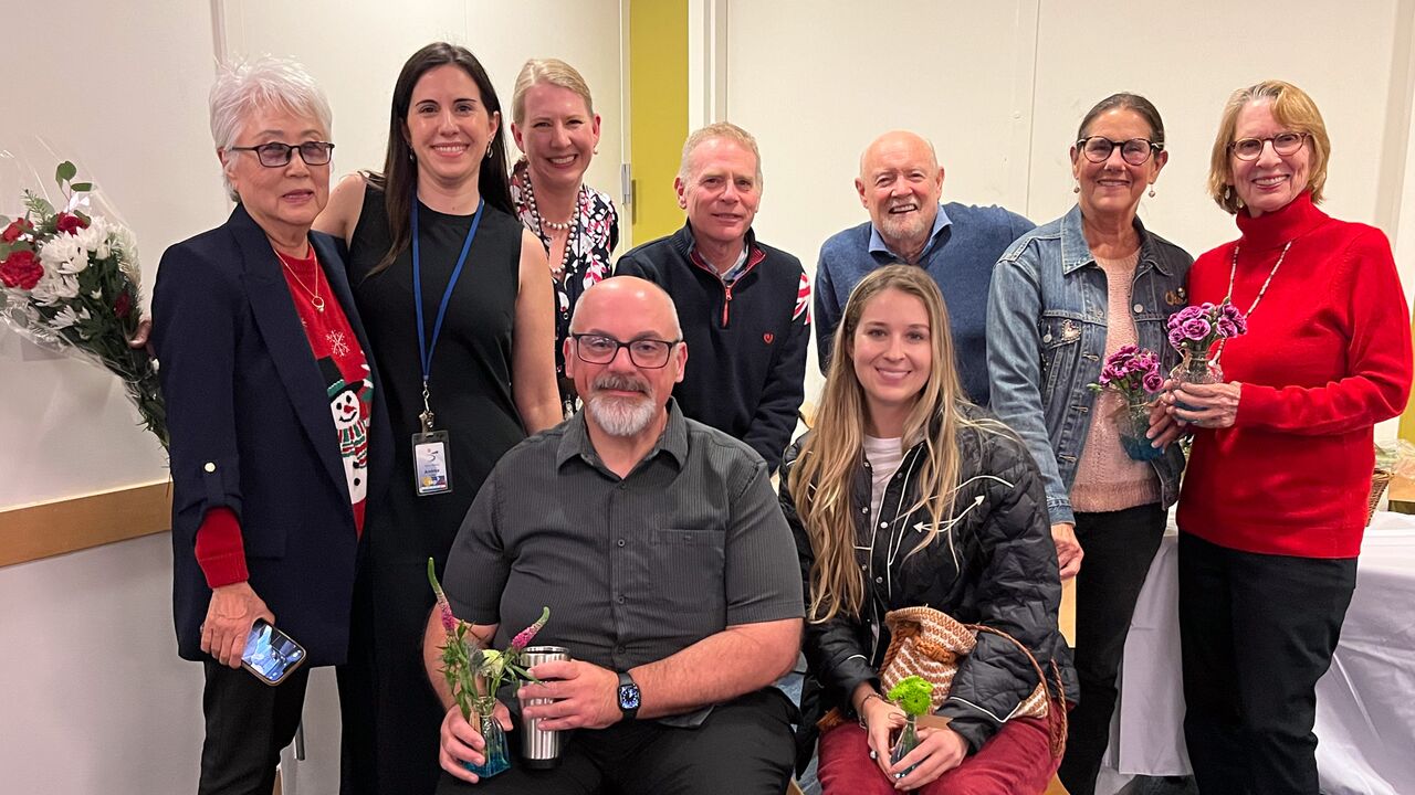
[[[974,419],[985,416],[971,405],[959,412]],[[815,553],[787,485],[804,439],[787,450],[781,508],[795,533],[809,604]],[[904,454],[873,528],[872,474],[862,455],[852,487],[852,515],[856,559],[866,574],[869,603],[860,617],[807,622],[804,651],[809,668],[798,761],[809,760],[815,721],[822,714],[835,706],[849,713],[849,696],[862,682],[879,686],[879,666],[890,641],[884,614],[900,607],[927,605],[965,624],[1007,632],[1032,649],[1049,679],[1049,661],[1056,661],[1067,700],[1077,700],[1071,652],[1057,629],[1061,583],[1037,465],[1010,431],[961,427],[958,447],[962,487],[954,501],[954,521],[934,543],[913,556],[910,552],[924,539],[930,523],[927,511],[910,511],[918,502],[917,470],[924,446],[920,443]],[[1036,686],[1032,663],[1016,646],[996,635],[979,634],[978,648],[959,663],[938,714],[949,717],[949,727],[976,751]]]

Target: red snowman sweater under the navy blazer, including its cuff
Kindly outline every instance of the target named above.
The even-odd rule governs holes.
[[[310,352],[327,388],[330,416],[338,431],[344,477],[354,511],[355,532],[364,532],[364,506],[368,494],[368,422],[374,405],[374,379],[368,359],[350,327],[344,307],[330,289],[310,248],[310,256],[296,259],[279,255],[294,300],[294,310],[304,325]],[[323,311],[321,308],[323,307]],[[197,563],[212,588],[249,579],[241,523],[229,508],[207,512],[197,529]]]

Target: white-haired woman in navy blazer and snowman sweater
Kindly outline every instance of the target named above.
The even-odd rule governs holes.
[[[330,106],[304,69],[222,69],[211,132],[236,201],[163,255],[153,297],[171,429],[178,654],[205,665],[198,792],[269,794],[310,666],[342,663],[371,461],[386,427],[334,240]],[[241,671],[258,620],[304,646],[270,686]]]

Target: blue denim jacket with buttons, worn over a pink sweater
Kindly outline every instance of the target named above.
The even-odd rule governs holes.
[[[1169,315],[1184,308],[1193,257],[1145,231],[1131,290],[1136,341],[1160,355],[1163,372],[1179,364],[1169,345]],[[988,300],[988,376],[992,410],[1027,443],[1047,491],[1051,522],[1074,522],[1071,484],[1091,430],[1095,392],[1087,388],[1105,364],[1109,294],[1105,272],[1081,231],[1081,208],[1019,238],[992,276]],[[1179,498],[1184,455],[1170,444],[1150,461],[1160,502]]]

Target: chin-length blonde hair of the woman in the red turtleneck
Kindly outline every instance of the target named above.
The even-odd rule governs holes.
[[[1272,117],[1279,124],[1295,133],[1306,133],[1312,140],[1307,190],[1312,191],[1312,202],[1320,204],[1322,190],[1326,187],[1326,166],[1332,157],[1332,139],[1327,137],[1326,122],[1322,120],[1317,103],[1307,96],[1307,92],[1282,81],[1262,81],[1241,88],[1228,98],[1224,115],[1218,119],[1218,134],[1214,137],[1214,149],[1208,158],[1208,195],[1230,214],[1237,215],[1242,209],[1242,199],[1232,188],[1234,171],[1228,147],[1232,146],[1238,129],[1238,113],[1252,102],[1271,102]]]

